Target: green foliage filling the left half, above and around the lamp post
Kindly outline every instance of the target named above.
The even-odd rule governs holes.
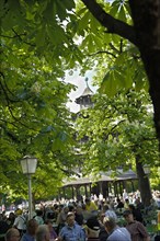
[[[33,191],[38,183],[42,191],[36,190],[35,198],[50,194],[54,173],[57,186],[60,185],[64,172],[58,168],[64,159],[72,160],[71,118],[66,108],[72,87],[62,81],[66,67],[60,59],[61,53],[68,55],[69,45],[61,21],[68,16],[72,3],[67,0],[61,5],[59,1],[54,4],[50,1],[1,2],[1,183],[27,195],[27,183],[21,185],[23,174],[18,160],[24,154],[35,154],[39,171]],[[67,165],[66,162],[65,169]],[[42,168],[43,180],[38,174]],[[44,180],[48,173],[49,182]],[[50,188],[45,191],[48,184]]]

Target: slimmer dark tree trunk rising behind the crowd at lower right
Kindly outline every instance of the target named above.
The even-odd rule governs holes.
[[[141,196],[141,202],[145,207],[150,205],[151,190],[148,176],[144,172],[142,163],[139,161],[139,157],[136,157],[136,171],[138,176],[138,185]]]

